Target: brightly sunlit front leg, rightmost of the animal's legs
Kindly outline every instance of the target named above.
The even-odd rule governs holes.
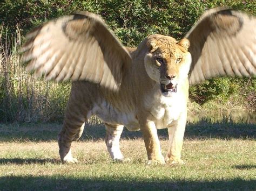
[[[184,164],[181,157],[181,149],[183,145],[183,137],[186,127],[187,112],[181,113],[177,124],[168,128],[169,133],[169,149],[165,157],[165,161],[169,164]]]

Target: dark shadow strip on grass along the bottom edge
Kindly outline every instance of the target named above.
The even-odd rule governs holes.
[[[85,174],[86,175],[86,174]],[[110,179],[110,180],[105,180]],[[115,180],[117,179],[117,180]],[[165,178],[165,180],[137,180],[131,177],[103,177],[103,178],[66,178],[57,176],[3,176],[0,179],[2,189],[29,189],[29,190],[253,190],[256,180],[215,180],[215,181],[192,181],[175,178]]]

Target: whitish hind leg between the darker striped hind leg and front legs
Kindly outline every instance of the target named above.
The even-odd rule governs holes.
[[[110,125],[104,123],[106,127],[106,138],[105,143],[107,146],[107,151],[113,160],[123,161],[124,155],[120,151],[119,140],[123,132],[124,125]]]

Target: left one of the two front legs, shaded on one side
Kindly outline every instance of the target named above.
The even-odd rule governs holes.
[[[148,164],[165,164],[154,122],[145,121],[140,123],[143,139],[146,146]]]

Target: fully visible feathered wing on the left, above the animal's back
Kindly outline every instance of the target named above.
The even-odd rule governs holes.
[[[22,47],[26,69],[47,80],[87,80],[117,90],[131,56],[93,13],[60,17],[31,31]]]

